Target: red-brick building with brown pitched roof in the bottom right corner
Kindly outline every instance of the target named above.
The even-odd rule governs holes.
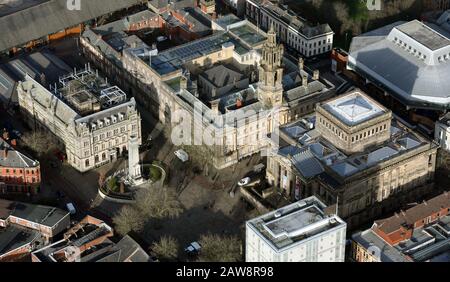
[[[353,234],[352,259],[358,262],[450,262],[450,193],[376,220]]]

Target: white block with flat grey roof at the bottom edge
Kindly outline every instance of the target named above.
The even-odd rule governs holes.
[[[309,197],[246,223],[247,262],[343,262],[347,224]]]

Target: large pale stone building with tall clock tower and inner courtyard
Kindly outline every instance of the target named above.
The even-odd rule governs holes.
[[[84,38],[81,43],[99,67],[106,65],[97,59],[94,41]],[[211,36],[157,55],[143,55],[142,50],[124,48],[116,64],[122,69],[113,75],[127,80],[136,99],[170,125],[172,134],[202,145],[216,168],[265,150],[278,124],[313,112],[315,103],[335,93],[334,86],[304,68],[303,61],[297,64],[283,56],[274,30],[265,34],[248,21],[233,22]],[[218,75],[217,69],[228,69],[229,78]],[[220,81],[235,77],[236,83],[216,90],[204,87],[207,73]],[[239,77],[248,77],[248,85]],[[180,126],[182,120],[188,124]],[[177,132],[180,127],[200,134],[191,140]],[[208,137],[209,130],[214,134]]]

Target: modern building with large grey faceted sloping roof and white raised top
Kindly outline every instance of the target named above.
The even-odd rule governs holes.
[[[396,22],[356,36],[347,67],[408,109],[450,109],[450,33],[443,22]]]

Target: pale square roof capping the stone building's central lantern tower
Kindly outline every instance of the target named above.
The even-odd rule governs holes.
[[[348,126],[354,126],[387,113],[386,109],[359,91],[326,102],[322,107]]]

